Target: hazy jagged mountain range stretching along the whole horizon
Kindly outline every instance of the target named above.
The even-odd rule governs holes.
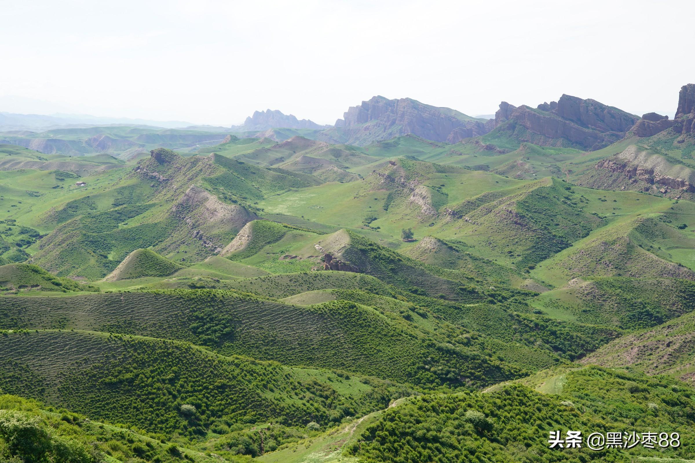
[[[334,126],[316,124],[309,119],[297,119],[294,115],[285,115],[279,110],[268,109],[255,111],[253,115],[246,118],[244,124],[229,128],[193,125],[185,121],[151,121],[88,115],[20,115],[0,112],[0,132],[5,132],[3,140],[6,143],[16,143],[47,153],[69,154],[113,151],[116,144],[110,139],[104,142],[101,140],[102,135],[108,133],[108,137],[113,137],[111,135],[113,130],[109,127],[123,125],[147,126],[141,127],[142,130],[156,128],[157,131],[160,128],[183,127],[189,133],[191,140],[187,141],[190,143],[166,146],[175,149],[224,137],[224,135],[203,137],[205,140],[199,140],[190,134],[196,131],[215,135],[240,133],[245,137],[268,138],[276,142],[300,135],[330,144],[353,146],[367,146],[403,135],[416,135],[425,140],[446,144],[457,144],[466,139],[485,136],[486,140],[475,138],[476,142],[500,146],[504,144],[503,140],[507,140],[509,146],[529,142],[537,146],[596,151],[622,140],[630,132],[639,137],[651,137],[667,128],[674,128],[678,133],[692,133],[695,130],[694,101],[695,86],[684,85],[680,91],[676,117],[669,119],[668,116],[655,112],[639,117],[594,99],[582,99],[563,94],[557,101],[541,103],[535,108],[526,105],[514,106],[507,101],[502,101],[499,110],[491,118],[489,115],[471,117],[452,108],[427,105],[410,98],[387,99],[384,96],[373,96],[368,101],[362,101],[361,104],[348,108],[343,119],[336,120]],[[96,139],[86,142],[85,147],[79,149],[74,146],[69,150],[60,146],[56,147],[54,146],[58,143],[56,139],[63,137],[59,133],[42,133],[55,128],[76,129],[95,126],[104,129],[90,132],[90,135]],[[139,131],[138,135],[141,138],[146,137]],[[33,140],[24,140],[25,137]],[[46,143],[39,141],[44,139],[51,140],[50,149],[44,147]],[[136,147],[131,144],[133,141],[142,142],[142,140],[126,141],[124,143],[129,146],[121,143],[119,146],[123,146],[116,151]],[[67,141],[60,143],[65,144]],[[74,144],[74,140],[70,143]],[[95,146],[92,147],[92,145]]]

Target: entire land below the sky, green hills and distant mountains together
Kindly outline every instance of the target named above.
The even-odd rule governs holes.
[[[0,461],[692,461],[677,90],[1,132]]]

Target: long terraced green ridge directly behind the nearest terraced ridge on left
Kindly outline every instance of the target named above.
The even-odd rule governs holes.
[[[480,387],[522,372],[481,353],[480,344],[469,346],[471,339],[445,344],[400,317],[347,301],[302,307],[208,290],[15,297],[3,298],[0,319],[6,329],[181,339],[226,355],[345,369],[423,387]]]

